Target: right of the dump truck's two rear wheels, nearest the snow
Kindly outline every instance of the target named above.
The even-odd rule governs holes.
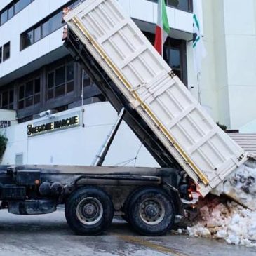
[[[130,198],[128,217],[130,224],[142,235],[166,234],[174,222],[173,201],[163,189],[139,189]]]

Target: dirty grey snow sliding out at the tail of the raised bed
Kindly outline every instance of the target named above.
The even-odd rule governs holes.
[[[256,210],[256,161],[245,162],[212,193],[217,196],[225,194],[246,208]]]

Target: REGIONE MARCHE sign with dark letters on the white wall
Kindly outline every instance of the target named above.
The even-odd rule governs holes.
[[[28,124],[27,135],[28,137],[33,137],[35,135],[43,135],[57,130],[80,126],[79,116],[80,112],[75,112],[65,116],[53,116],[40,122]]]

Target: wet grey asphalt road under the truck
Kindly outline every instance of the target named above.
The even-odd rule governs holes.
[[[0,211],[0,256],[255,256],[256,248],[227,245],[188,236],[138,236],[126,222],[114,220],[102,236],[75,236],[64,212],[17,216]]]

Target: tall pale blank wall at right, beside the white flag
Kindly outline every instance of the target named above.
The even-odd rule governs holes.
[[[256,133],[256,1],[204,0],[203,25],[202,104],[228,128]]]

